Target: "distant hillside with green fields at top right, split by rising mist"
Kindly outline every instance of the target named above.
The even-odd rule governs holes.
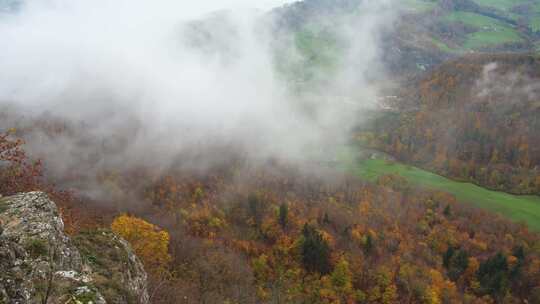
[[[282,32],[295,34],[294,42],[308,58],[305,66],[313,70],[339,62],[345,43],[333,31],[344,18],[354,18],[361,3],[305,0],[273,14]],[[468,53],[540,50],[538,0],[405,0],[396,5],[399,17],[380,42],[383,63],[398,79]]]

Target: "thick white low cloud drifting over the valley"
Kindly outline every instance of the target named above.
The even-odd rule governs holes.
[[[339,71],[310,95],[276,71],[276,23],[261,22],[265,12],[213,11],[245,1],[28,1],[0,17],[0,104],[76,130],[28,135],[57,174],[81,163],[90,173],[98,164],[205,167],[223,156],[217,146],[302,158],[345,139],[373,105],[369,75],[389,5],[364,1],[335,28],[348,42]]]

